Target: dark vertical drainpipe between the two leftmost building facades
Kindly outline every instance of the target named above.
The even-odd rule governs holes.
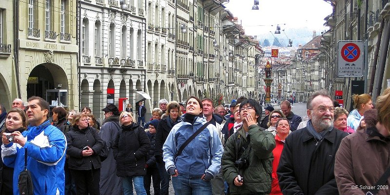
[[[15,62],[15,73],[16,73],[16,86],[17,97],[21,99],[20,90],[20,77],[19,77],[19,0],[14,0],[14,62]]]

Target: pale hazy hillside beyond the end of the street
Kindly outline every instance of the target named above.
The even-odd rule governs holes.
[[[286,34],[285,34],[286,33]],[[316,30],[316,35],[321,35],[321,31]],[[278,39],[280,44],[283,47],[286,47],[289,43],[290,38],[292,40],[292,45],[295,48],[298,48],[298,45],[304,45],[310,40],[313,39],[313,30],[307,27],[305,28],[289,28],[285,29],[284,32],[281,30],[280,34],[272,34],[270,32],[257,35],[257,40],[259,40],[261,46],[267,46],[267,41],[264,43],[264,40],[267,39],[270,45],[278,45],[273,44],[274,39]]]

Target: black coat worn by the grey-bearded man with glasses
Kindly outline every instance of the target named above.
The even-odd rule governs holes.
[[[283,147],[277,176],[284,195],[338,195],[335,155],[348,133],[333,128],[322,141],[307,127],[293,131]]]

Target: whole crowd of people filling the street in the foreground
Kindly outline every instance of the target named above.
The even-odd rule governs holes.
[[[170,180],[176,195],[389,194],[390,89],[352,98],[349,113],[314,92],[304,121],[287,100],[263,117],[245,97],[161,99],[148,121],[142,101],[108,104],[101,126],[89,107],[49,118],[44,99],[17,98],[0,105],[0,195],[20,194],[25,162],[35,195],[168,195]]]

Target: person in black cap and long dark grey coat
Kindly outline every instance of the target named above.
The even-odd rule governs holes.
[[[99,136],[106,142],[109,148],[107,158],[101,162],[100,171],[100,194],[101,195],[120,195],[122,192],[122,182],[117,176],[117,162],[114,159],[113,150],[115,139],[119,133],[119,110],[114,104],[108,104],[104,111],[104,122],[100,127]]]

